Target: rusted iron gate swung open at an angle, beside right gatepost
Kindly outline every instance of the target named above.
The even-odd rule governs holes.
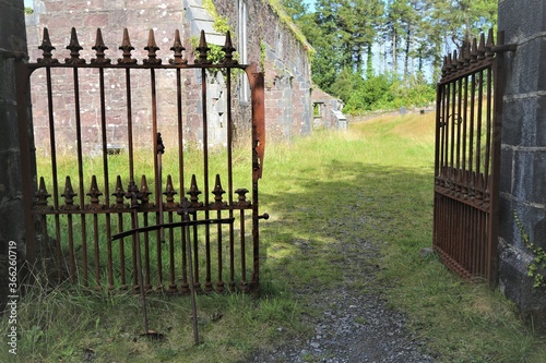
[[[437,86],[434,249],[466,279],[497,281],[497,219],[502,126],[499,32],[444,58]],[[499,55],[500,53],[500,55]]]

